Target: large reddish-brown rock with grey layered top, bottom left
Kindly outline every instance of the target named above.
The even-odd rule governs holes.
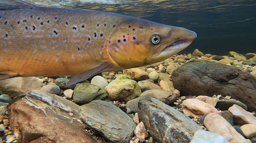
[[[32,90],[9,105],[11,130],[20,143],[96,143],[84,131],[79,106],[60,96]],[[49,142],[43,142],[44,141]],[[37,141],[37,142],[36,142]]]

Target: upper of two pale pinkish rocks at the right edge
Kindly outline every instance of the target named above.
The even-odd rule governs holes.
[[[254,125],[256,125],[256,117],[252,113],[245,111],[242,107],[234,104],[232,107],[230,107],[228,109],[228,111],[232,114],[235,124],[238,124],[238,125],[254,124]]]

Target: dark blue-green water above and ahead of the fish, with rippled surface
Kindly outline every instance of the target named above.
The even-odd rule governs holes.
[[[71,7],[139,17],[197,32],[181,53],[228,55],[256,53],[256,0],[26,0],[37,5]]]

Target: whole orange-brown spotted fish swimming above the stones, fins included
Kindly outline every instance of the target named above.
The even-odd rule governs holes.
[[[131,16],[0,0],[0,80],[75,75],[163,61],[188,47],[194,31]]]

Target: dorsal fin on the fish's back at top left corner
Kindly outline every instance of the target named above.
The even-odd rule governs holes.
[[[34,4],[23,0],[0,0],[0,10],[17,9],[17,8],[32,8]]]

